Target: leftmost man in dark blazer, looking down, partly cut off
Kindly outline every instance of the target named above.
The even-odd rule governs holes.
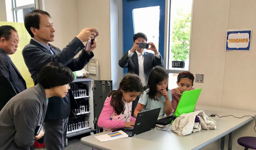
[[[0,110],[16,94],[26,89],[26,82],[9,55],[16,52],[19,36],[14,27],[0,27]]]

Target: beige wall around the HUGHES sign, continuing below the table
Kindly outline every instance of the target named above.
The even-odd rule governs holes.
[[[197,104],[256,111],[255,7],[254,0],[194,0],[190,71],[204,74],[204,83],[194,85],[203,88]],[[252,29],[250,51],[226,52],[227,30],[248,28]],[[233,133],[233,149],[243,149],[237,144],[239,137],[256,135],[253,127],[251,121]],[[228,137],[225,149],[227,143]],[[219,144],[204,149],[218,149]]]

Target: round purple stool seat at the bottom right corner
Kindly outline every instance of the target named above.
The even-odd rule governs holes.
[[[244,136],[237,139],[237,143],[245,147],[245,150],[248,150],[248,148],[256,149],[256,137]]]

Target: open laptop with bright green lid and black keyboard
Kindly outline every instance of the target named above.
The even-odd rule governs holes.
[[[156,124],[170,124],[173,123],[176,117],[179,117],[181,114],[193,112],[201,91],[202,89],[195,89],[183,92],[174,115],[158,119]]]

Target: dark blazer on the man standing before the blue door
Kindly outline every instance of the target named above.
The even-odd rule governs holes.
[[[155,57],[153,53],[144,52],[144,73],[146,76],[146,80],[148,80],[148,76],[150,71],[155,66],[164,66],[164,60],[161,54],[159,53],[160,58]],[[139,75],[139,63],[138,63],[138,55],[136,51],[133,52],[131,57],[128,57],[128,51],[124,54],[124,56],[118,62],[119,66],[122,68],[128,68],[129,73],[135,73]]]

